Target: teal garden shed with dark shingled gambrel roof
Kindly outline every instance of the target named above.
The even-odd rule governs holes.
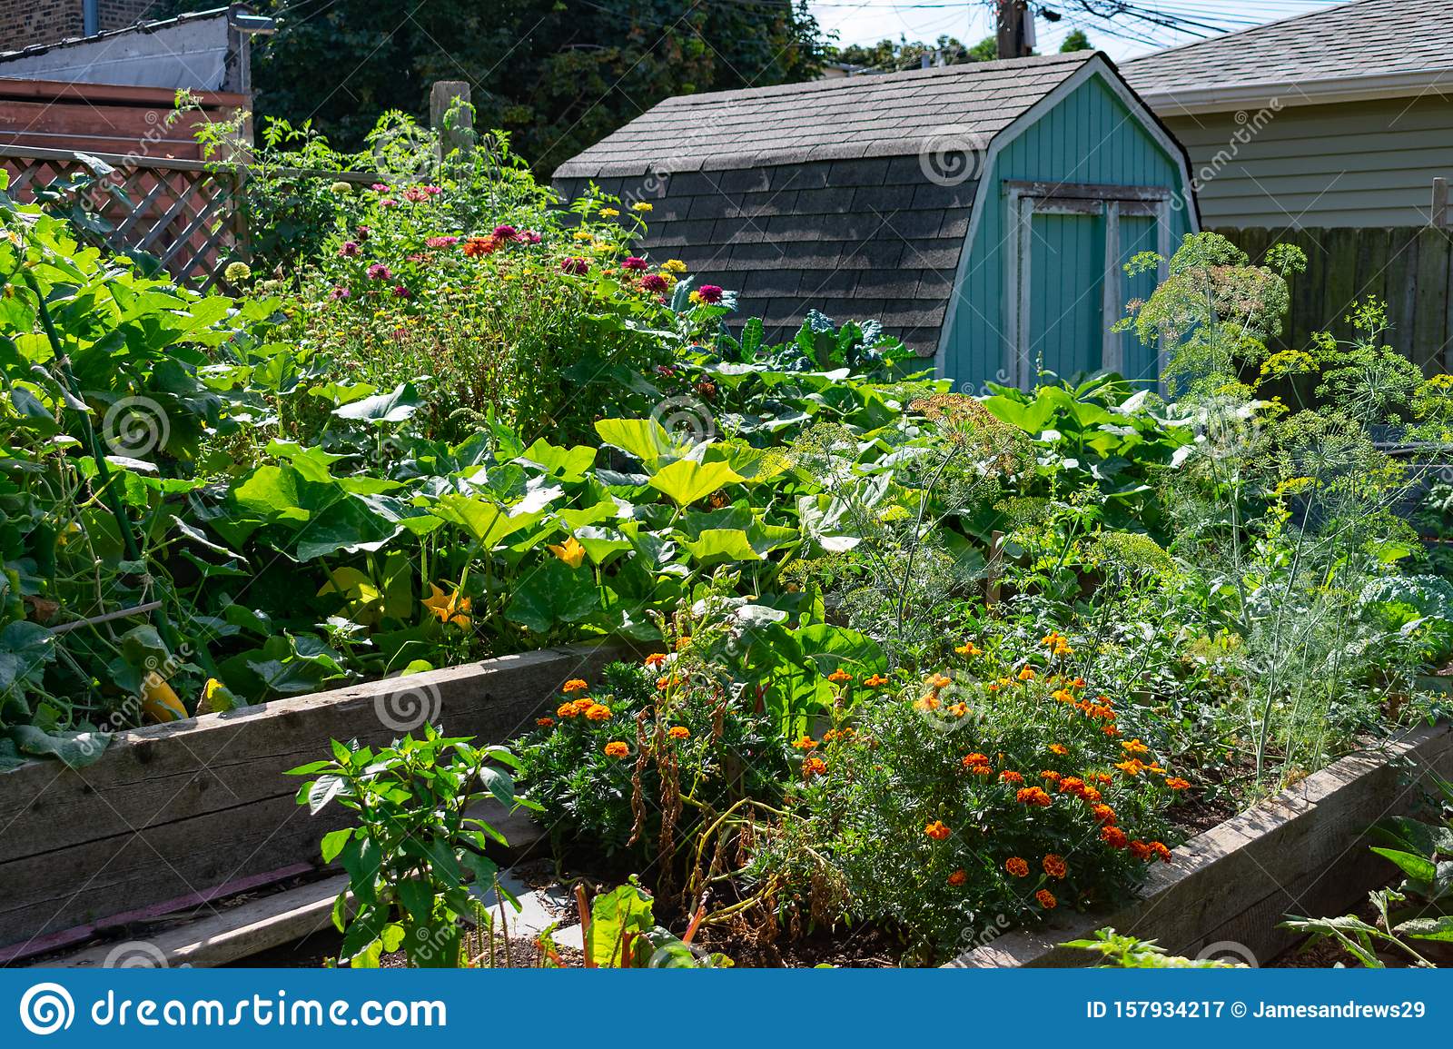
[[[645,247],[738,318],[881,320],[968,389],[1158,373],[1109,328],[1132,254],[1197,228],[1184,150],[1098,52],[667,99],[562,164],[651,205]]]

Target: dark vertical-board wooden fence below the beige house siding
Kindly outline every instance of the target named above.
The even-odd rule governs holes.
[[[1424,372],[1453,370],[1453,230],[1303,228],[1215,230],[1260,262],[1274,244],[1306,253],[1306,273],[1292,282],[1292,312],[1280,347],[1303,347],[1318,331],[1348,337],[1343,320],[1369,295],[1388,304],[1388,344]]]

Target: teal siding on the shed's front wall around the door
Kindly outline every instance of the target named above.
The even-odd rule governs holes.
[[[1004,144],[988,173],[989,186],[1004,180],[1103,183],[1114,186],[1167,186],[1175,195],[1171,211],[1171,247],[1190,232],[1193,219],[1181,192],[1178,158],[1167,153],[1120,97],[1100,77],[1091,77],[1051,112]],[[974,230],[974,243],[947,333],[943,372],[965,392],[982,392],[984,381],[1005,382],[1011,375],[1005,325],[1005,234],[1008,205],[991,192]],[[1130,244],[1122,235],[1129,254]],[[1139,247],[1139,246],[1136,246]],[[1096,295],[1101,275],[1075,275],[1075,282]],[[1128,288],[1128,292],[1139,291]],[[1116,318],[1103,318],[1106,325]],[[1123,336],[1128,373],[1154,370],[1154,350]],[[1068,378],[1068,376],[1067,376]]]

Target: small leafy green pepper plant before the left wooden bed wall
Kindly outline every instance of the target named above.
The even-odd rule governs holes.
[[[323,837],[323,862],[349,873],[333,905],[339,960],[373,968],[402,949],[414,966],[459,965],[459,923],[477,910],[468,882],[497,888],[487,850],[507,844],[471,806],[485,798],[506,809],[527,803],[500,764],[517,767],[503,747],[472,747],[426,725],[421,740],[405,735],[376,750],[334,741],[331,761],[288,771],[315,777],[298,790],[312,815],[337,802],[357,818]]]

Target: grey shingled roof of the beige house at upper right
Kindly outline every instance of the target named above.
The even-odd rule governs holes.
[[[1447,0],[1353,0],[1129,60],[1122,73],[1151,105],[1216,89],[1280,86],[1316,100],[1334,81],[1441,76],[1453,90]],[[1411,87],[1411,84],[1409,84]],[[1235,99],[1228,100],[1234,108]]]

